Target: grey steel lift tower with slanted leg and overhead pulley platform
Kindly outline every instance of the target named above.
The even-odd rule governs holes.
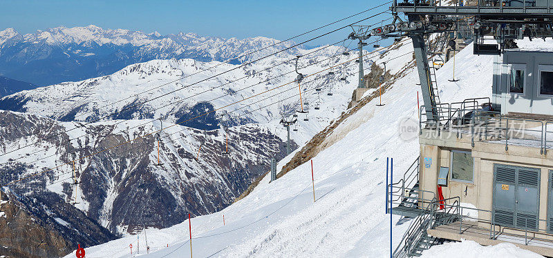
[[[442,1],[394,0],[390,10],[393,23],[373,28],[368,37],[410,37],[424,110],[429,125],[440,123],[435,92],[431,81],[424,37],[434,33],[460,32],[471,34],[474,54],[502,54],[508,48],[517,48],[515,39],[524,37],[553,37],[553,0],[478,0],[464,6],[464,1],[453,0],[442,6]],[[405,21],[404,21],[405,20]],[[350,34],[350,38],[357,36]],[[495,39],[489,43],[486,39]]]

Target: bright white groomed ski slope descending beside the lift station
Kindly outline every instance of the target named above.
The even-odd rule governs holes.
[[[411,50],[411,43],[406,43],[384,54],[380,61]],[[411,55],[402,60],[388,70],[409,63]],[[460,81],[447,81],[453,76],[451,61],[437,72],[442,102],[491,97],[492,61],[491,56],[473,55],[472,45],[458,53],[455,76]],[[382,96],[385,106],[375,106],[378,99],[373,99],[335,128],[332,135],[341,139],[312,159],[317,201],[313,201],[310,163],[271,183],[265,177],[250,195],[225,210],[191,219],[193,257],[388,257],[391,222],[384,202],[386,158],[393,158],[393,178],[397,181],[418,157],[418,139],[404,141],[397,130],[401,119],[418,119],[417,76],[411,68]],[[279,162],[279,168],[290,157]],[[409,223],[393,216],[394,248]],[[138,237],[88,247],[86,257],[131,257],[129,244],[135,256],[188,257],[188,239],[187,220],[171,228],[147,228]],[[465,248],[474,249],[471,253],[481,257],[495,255],[496,250],[506,250],[498,253],[509,257],[534,257],[514,246],[481,248],[467,242],[434,247],[424,255],[436,257],[442,250],[458,255]]]

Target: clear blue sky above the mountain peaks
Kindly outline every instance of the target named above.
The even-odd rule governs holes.
[[[140,1],[140,0],[0,0],[0,30],[21,33],[56,26],[125,28],[161,34],[194,32],[205,36],[287,39],[380,3],[376,1]],[[379,11],[385,10],[379,8]],[[371,14],[376,13],[371,11]],[[370,14],[364,14],[367,17]],[[382,15],[381,19],[390,17]],[[354,20],[355,19],[355,20]],[[355,17],[347,23],[362,19]],[[376,19],[370,22],[375,22]],[[347,24],[339,24],[342,26]],[[367,23],[365,23],[367,24]],[[335,27],[336,28],[336,27]],[[350,31],[332,34],[316,44],[333,43]]]

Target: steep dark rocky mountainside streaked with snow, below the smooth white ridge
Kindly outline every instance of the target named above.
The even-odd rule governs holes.
[[[65,132],[75,126],[79,133]],[[0,183],[17,201],[35,201],[52,212],[51,217],[62,218],[71,227],[80,222],[65,219],[68,215],[61,217],[66,212],[80,212],[97,227],[108,228],[111,233],[106,231],[104,237],[79,242],[98,244],[123,230],[165,228],[182,222],[189,212],[205,215],[221,210],[268,170],[270,157],[285,155],[285,143],[257,124],[225,132],[164,123],[159,137],[162,165],[154,166],[158,141],[152,132],[159,126],[151,120],[84,126],[0,112]],[[88,135],[73,139],[85,133]],[[223,153],[226,138],[229,154]],[[35,143],[37,140],[40,143]],[[73,160],[80,182],[76,188],[70,184]],[[73,207],[69,203],[75,196],[79,204]],[[45,222],[50,223],[59,224]],[[78,240],[62,236],[71,244]]]

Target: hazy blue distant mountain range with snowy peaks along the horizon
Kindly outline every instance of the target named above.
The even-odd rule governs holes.
[[[254,37],[223,39],[194,33],[160,35],[97,26],[63,26],[20,34],[0,31],[0,75],[46,86],[111,75],[125,66],[153,59],[195,59],[243,63],[292,46],[293,42]],[[254,54],[253,50],[265,48]],[[300,48],[301,49],[301,48]],[[299,49],[282,52],[294,55]],[[241,57],[243,56],[243,57]]]

